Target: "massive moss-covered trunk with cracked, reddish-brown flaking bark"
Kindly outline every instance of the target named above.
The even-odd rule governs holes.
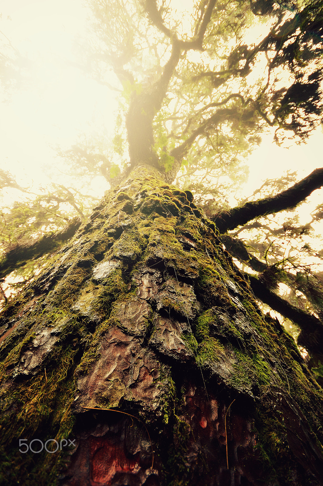
[[[109,191],[1,319],[1,484],[323,484],[322,389],[156,170]]]

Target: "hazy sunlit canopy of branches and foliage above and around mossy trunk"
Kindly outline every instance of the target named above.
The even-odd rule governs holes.
[[[299,344],[320,380],[323,253],[314,233],[322,205],[306,225],[293,211],[322,187],[323,169],[299,182],[292,172],[267,180],[236,208],[228,194],[246,180],[246,157],[263,133],[273,130],[278,144],[301,143],[321,123],[323,2],[204,0],[187,2],[180,15],[172,1],[88,4],[92,35],[83,63],[120,92],[115,135],[108,144],[83,140],[59,152],[66,186],[57,178],[33,194],[0,172],[2,189],[26,196],[0,214],[2,282],[10,272],[33,278],[76,231],[97,200],[94,178],[113,187],[148,161],[194,194],[193,210],[215,223],[260,301],[301,328]],[[2,288],[1,295],[5,303]]]

